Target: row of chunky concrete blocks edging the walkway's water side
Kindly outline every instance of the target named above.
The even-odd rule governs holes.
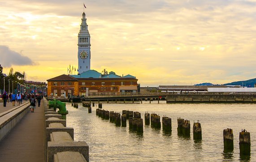
[[[53,108],[45,107],[44,114],[47,162],[89,162],[89,146],[85,141],[74,141],[74,129],[66,127],[66,120]]]

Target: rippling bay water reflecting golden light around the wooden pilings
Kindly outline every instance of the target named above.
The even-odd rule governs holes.
[[[90,162],[256,162],[256,125],[253,123],[256,104],[166,104],[165,101],[143,104],[103,104],[108,111],[131,110],[155,112],[172,118],[172,133],[144,126],[143,133],[116,127],[114,123],[96,116],[79,104],[79,108],[67,103],[67,126],[74,128],[74,140],[89,145]],[[190,120],[191,137],[177,134],[177,117]],[[200,120],[202,141],[193,140],[193,120]],[[234,133],[234,151],[223,153],[223,129]],[[239,132],[251,133],[251,155],[239,156]]]

